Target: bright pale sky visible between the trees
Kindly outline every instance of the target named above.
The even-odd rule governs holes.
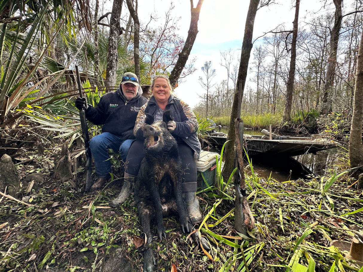
[[[193,2],[196,6],[197,0],[193,0]],[[229,49],[236,50],[236,60],[240,55],[249,2],[248,0],[204,0],[198,22],[199,32],[189,55],[189,59],[196,58],[194,66],[197,70],[192,75],[188,75],[184,82],[180,83],[175,89],[176,96],[189,104],[191,108],[200,102],[198,95],[205,93],[198,80],[199,77],[204,78],[204,74],[200,69],[204,62],[212,61],[212,68],[216,69],[216,77],[212,83],[219,84],[223,79],[227,79],[227,70],[220,65],[220,52]],[[282,4],[273,4],[257,11],[253,40],[273,30],[279,24],[285,24],[286,29],[292,29],[295,1],[283,0],[276,2]],[[348,0],[344,1],[344,5],[347,2]],[[148,20],[150,13],[154,13],[159,17],[164,16],[165,11],[170,7],[170,3],[169,0],[139,0],[138,13],[140,20]],[[190,1],[174,0],[173,4],[175,8],[172,14],[181,17],[179,34],[185,40],[190,25]],[[301,0],[299,22],[304,19],[303,16],[305,15],[316,16],[316,12],[322,12],[322,5],[317,0]],[[147,19],[143,20],[143,18]],[[253,51],[251,52],[252,57]],[[249,84],[252,83],[247,81],[246,87]]]

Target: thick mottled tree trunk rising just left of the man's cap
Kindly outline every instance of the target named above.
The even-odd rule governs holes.
[[[110,18],[109,50],[107,52],[106,86],[115,86],[117,69],[117,44],[118,38],[122,34],[120,17],[123,0],[114,0]]]

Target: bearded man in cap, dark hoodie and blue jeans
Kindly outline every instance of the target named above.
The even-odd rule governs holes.
[[[102,189],[111,178],[108,149],[119,151],[125,163],[127,152],[135,139],[133,129],[136,116],[140,107],[147,102],[141,94],[142,90],[136,75],[126,72],[122,76],[118,90],[103,95],[97,107],[87,104],[86,98],[76,99],[76,107],[79,110],[85,108],[86,118],[89,121],[96,125],[103,125],[102,134],[94,136],[89,142],[98,176],[97,181],[90,188],[91,192]],[[123,194],[129,196],[133,190],[127,175],[124,178],[125,182],[119,197]]]

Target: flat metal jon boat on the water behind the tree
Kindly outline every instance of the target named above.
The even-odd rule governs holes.
[[[262,130],[263,133],[269,134],[266,129]],[[208,142],[212,146],[221,149],[223,144],[227,141],[226,135],[213,135],[220,133],[212,133],[207,137]],[[272,133],[272,139],[267,135],[244,135],[244,148],[248,156],[279,156],[279,157],[293,157],[306,153],[316,154],[329,148],[338,147],[340,143],[321,137],[319,135],[312,135],[311,137],[290,137],[278,136]]]

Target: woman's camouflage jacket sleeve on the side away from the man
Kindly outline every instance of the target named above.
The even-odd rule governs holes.
[[[180,100],[180,105],[182,108],[182,112],[180,112],[182,120],[181,122],[176,122],[176,128],[171,134],[179,137],[188,137],[198,131],[198,120],[187,103]]]

